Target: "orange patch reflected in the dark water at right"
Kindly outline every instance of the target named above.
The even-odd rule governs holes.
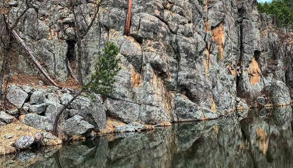
[[[263,152],[263,155],[267,154],[268,150],[268,134],[265,133],[265,130],[261,128],[256,129],[256,146],[259,147],[259,149]]]

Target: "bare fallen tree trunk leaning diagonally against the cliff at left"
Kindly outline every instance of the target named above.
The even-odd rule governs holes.
[[[47,72],[44,71],[44,69],[42,69],[42,66],[40,65],[40,63],[38,62],[37,59],[35,59],[35,57],[33,56],[32,52],[30,52],[30,49],[25,45],[24,41],[19,37],[19,35],[16,33],[16,31],[12,30],[12,33],[14,35],[14,37],[19,41],[19,43],[21,43],[21,46],[23,47],[23,49],[28,53],[28,55],[32,58],[34,64],[38,67],[38,69],[42,72],[42,74],[54,85],[54,86],[58,86],[53,79],[47,74]],[[59,86],[58,86],[59,87]]]

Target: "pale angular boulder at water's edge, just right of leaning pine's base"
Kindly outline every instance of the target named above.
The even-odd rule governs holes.
[[[73,116],[66,120],[63,124],[64,132],[67,135],[88,136],[95,127],[83,119],[81,116]]]

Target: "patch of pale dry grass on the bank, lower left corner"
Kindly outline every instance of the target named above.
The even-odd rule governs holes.
[[[17,130],[18,127],[21,127],[20,130]],[[35,129],[28,125],[23,124],[21,121],[15,121],[14,123],[4,125],[0,127],[0,155],[6,155],[16,152],[14,147],[11,144],[15,143],[20,137],[28,135],[35,137],[35,133],[42,132],[41,130]],[[12,135],[12,138],[6,139],[4,134]]]

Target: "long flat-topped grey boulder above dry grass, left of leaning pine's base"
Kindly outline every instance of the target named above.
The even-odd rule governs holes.
[[[26,114],[22,122],[36,129],[42,129],[46,131],[53,130],[53,124],[50,123],[50,120],[45,116],[40,116],[37,114]]]

